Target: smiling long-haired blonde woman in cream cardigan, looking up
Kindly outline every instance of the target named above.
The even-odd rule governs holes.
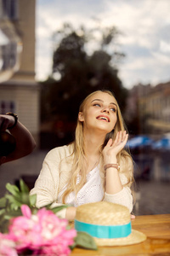
[[[90,94],[80,106],[75,141],[52,149],[31,189],[37,207],[54,202],[69,204],[61,218],[74,219],[77,206],[110,201],[133,210],[133,161],[123,148],[127,143],[122,114],[108,90]]]

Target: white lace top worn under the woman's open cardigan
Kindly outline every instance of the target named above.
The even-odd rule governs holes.
[[[80,176],[77,177],[77,183],[80,181]],[[65,192],[65,188],[62,189],[58,196],[58,202],[62,203],[62,195]],[[66,203],[73,207],[78,207],[89,202],[102,201],[104,197],[104,189],[101,183],[101,178],[99,175],[99,166],[96,166],[87,175],[87,183],[84,184],[82,189],[77,193],[77,198],[75,192],[71,192],[67,196]]]

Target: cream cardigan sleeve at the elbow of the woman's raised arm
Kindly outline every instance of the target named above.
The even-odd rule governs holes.
[[[131,194],[131,189],[125,185],[127,183],[127,177],[123,173],[120,173],[119,175],[123,185],[123,189],[114,195],[105,193],[104,201],[109,201],[122,205],[124,207],[127,207],[129,209],[129,212],[132,212],[133,196]]]

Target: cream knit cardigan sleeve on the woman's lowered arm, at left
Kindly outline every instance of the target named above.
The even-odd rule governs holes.
[[[35,186],[30,191],[30,195],[37,195],[36,206],[38,208],[45,207],[52,203],[52,208],[61,206],[61,203],[57,203],[57,197],[59,194],[59,164],[60,161],[68,154],[69,147],[54,148],[48,152],[42,163],[42,170],[37,177]],[[65,166],[65,170],[68,166]],[[65,172],[65,178],[67,172]],[[59,218],[65,218],[66,208],[57,212],[56,215]]]

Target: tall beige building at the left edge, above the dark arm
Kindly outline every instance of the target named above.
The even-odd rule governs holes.
[[[3,14],[20,38],[22,51],[17,72],[0,83],[0,113],[17,113],[38,143],[40,88],[35,80],[36,0],[1,1]]]

